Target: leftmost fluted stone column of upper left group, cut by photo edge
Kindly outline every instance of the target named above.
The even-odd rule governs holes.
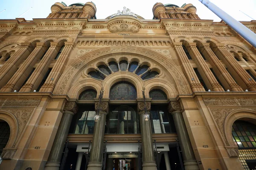
[[[6,82],[12,77],[17,71],[17,67],[22,59],[25,59],[32,51],[32,46],[30,43],[21,43],[18,50],[11,54],[10,59],[0,67],[0,87],[3,87]]]

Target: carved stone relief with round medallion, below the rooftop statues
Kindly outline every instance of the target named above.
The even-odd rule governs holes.
[[[133,24],[128,23],[121,23],[121,24],[114,24],[109,27],[109,31],[112,33],[116,32],[132,32],[137,33],[139,32],[139,27]]]

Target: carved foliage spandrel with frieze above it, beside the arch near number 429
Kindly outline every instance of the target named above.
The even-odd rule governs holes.
[[[256,99],[249,97],[236,97],[236,98],[204,98],[204,103],[208,106],[218,127],[221,137],[225,144],[225,148],[230,157],[238,157],[238,147],[230,145],[225,134],[224,127],[227,116],[234,111],[253,111],[256,113]],[[214,106],[214,108],[212,108]],[[226,108],[224,108],[226,106]],[[242,108],[241,108],[242,106]]]

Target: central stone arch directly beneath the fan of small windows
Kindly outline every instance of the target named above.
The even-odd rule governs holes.
[[[104,79],[102,82],[102,86],[105,90],[103,94],[103,98],[110,98],[110,89],[111,87],[117,83],[117,82],[129,82],[136,88],[137,91],[137,98],[142,98],[142,93],[140,92],[143,88],[143,80],[138,77],[137,75],[131,73],[131,72],[115,72],[113,74],[110,74],[108,77]]]

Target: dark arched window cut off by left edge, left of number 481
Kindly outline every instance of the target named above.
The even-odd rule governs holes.
[[[6,147],[9,137],[10,126],[7,122],[0,120],[0,154],[3,152],[3,148]]]

